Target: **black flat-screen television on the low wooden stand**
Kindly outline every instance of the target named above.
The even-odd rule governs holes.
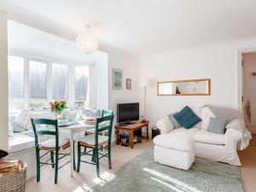
[[[129,124],[140,118],[140,105],[138,102],[119,103],[117,105],[117,122]]]

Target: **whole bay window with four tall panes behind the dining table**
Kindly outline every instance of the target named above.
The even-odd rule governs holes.
[[[70,108],[84,107],[89,86],[88,66],[9,55],[8,67],[10,113],[49,108],[52,100],[68,100]]]

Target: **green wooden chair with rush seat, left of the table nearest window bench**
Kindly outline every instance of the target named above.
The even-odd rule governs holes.
[[[35,148],[36,148],[36,158],[37,158],[37,181],[38,182],[40,181],[41,166],[51,165],[52,168],[55,168],[55,183],[57,183],[58,170],[61,169],[61,167],[66,166],[68,163],[70,163],[70,160],[68,160],[62,166],[59,166],[59,160],[66,157],[67,155],[70,155],[70,153],[63,154],[59,152],[61,148],[66,149],[70,147],[69,139],[59,137],[59,128],[58,128],[57,120],[32,119],[31,121],[32,121],[32,129],[35,136]],[[53,129],[47,129],[47,127],[45,127],[45,130],[42,130],[42,129],[37,130],[37,125],[48,125],[49,126],[48,128],[53,128]],[[40,135],[49,135],[51,136],[51,138],[45,142],[39,143],[38,136]],[[40,151],[46,151],[46,153],[40,156]],[[46,154],[50,154],[49,160],[41,162],[40,159],[44,157]],[[54,155],[55,155],[55,158],[54,158]],[[62,156],[60,157],[59,155],[62,155]],[[73,161],[74,161],[73,169],[75,170],[76,169],[75,160],[73,159]]]

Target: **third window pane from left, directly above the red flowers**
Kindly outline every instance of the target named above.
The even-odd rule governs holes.
[[[67,100],[67,72],[67,66],[52,64],[52,98],[55,100]]]

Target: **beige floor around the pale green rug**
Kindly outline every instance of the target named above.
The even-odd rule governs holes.
[[[135,148],[126,148],[113,145],[113,169],[108,169],[108,160],[101,162],[102,178],[114,177],[114,172],[137,154],[141,154],[146,149],[153,148],[152,141],[143,142],[135,145]],[[241,158],[241,175],[244,183],[245,192],[256,191],[256,135],[250,146],[239,152]],[[108,182],[96,177],[96,167],[88,164],[81,164],[80,173],[74,173],[74,177],[69,175],[70,166],[65,166],[59,171],[59,183],[54,184],[54,170],[49,166],[42,169],[41,182],[37,183],[36,178],[30,179],[26,184],[26,192],[85,192],[91,189],[96,183]]]

